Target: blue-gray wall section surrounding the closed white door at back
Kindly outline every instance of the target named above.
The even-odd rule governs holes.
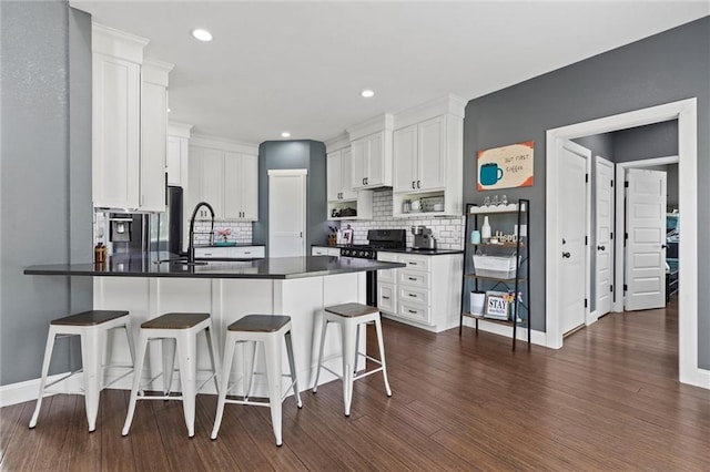
[[[266,141],[258,146],[258,222],[252,242],[268,244],[268,171],[306,168],[306,253],[327,238],[325,144],[317,141]],[[266,247],[268,254],[268,246]]]

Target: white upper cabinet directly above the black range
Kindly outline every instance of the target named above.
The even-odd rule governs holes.
[[[385,114],[348,130],[354,189],[392,186],[392,115]]]

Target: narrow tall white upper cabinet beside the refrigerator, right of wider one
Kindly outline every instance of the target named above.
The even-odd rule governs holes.
[[[139,208],[165,211],[168,74],[172,64],[145,60],[141,70],[141,176]]]

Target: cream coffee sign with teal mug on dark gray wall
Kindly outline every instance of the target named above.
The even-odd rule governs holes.
[[[532,186],[535,142],[478,151],[478,189]]]

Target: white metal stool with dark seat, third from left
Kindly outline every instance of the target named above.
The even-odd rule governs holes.
[[[288,357],[288,368],[291,384],[284,393],[282,386],[283,341],[286,345],[286,355]],[[230,374],[232,371],[232,362],[236,346],[242,342],[251,342],[252,351],[245,355],[245,373],[243,376],[243,396],[242,399],[226,398],[236,382],[230,386]],[[252,380],[254,377],[254,363],[256,358],[256,347],[261,343],[264,348],[265,370],[268,384],[268,401],[251,400]],[[248,367],[246,367],[248,366]],[[212,439],[217,438],[222,417],[224,415],[225,403],[247,404],[257,407],[270,407],[271,422],[274,429],[276,445],[282,444],[282,403],[288,394],[288,390],[293,389],[296,398],[296,406],[303,407],[301,394],[298,392],[298,381],[296,378],[296,366],[293,357],[293,345],[291,340],[291,317],[280,315],[247,315],[227,327],[224,360],[222,362],[220,393],[217,400],[217,411],[214,419],[214,428],[212,430]]]

